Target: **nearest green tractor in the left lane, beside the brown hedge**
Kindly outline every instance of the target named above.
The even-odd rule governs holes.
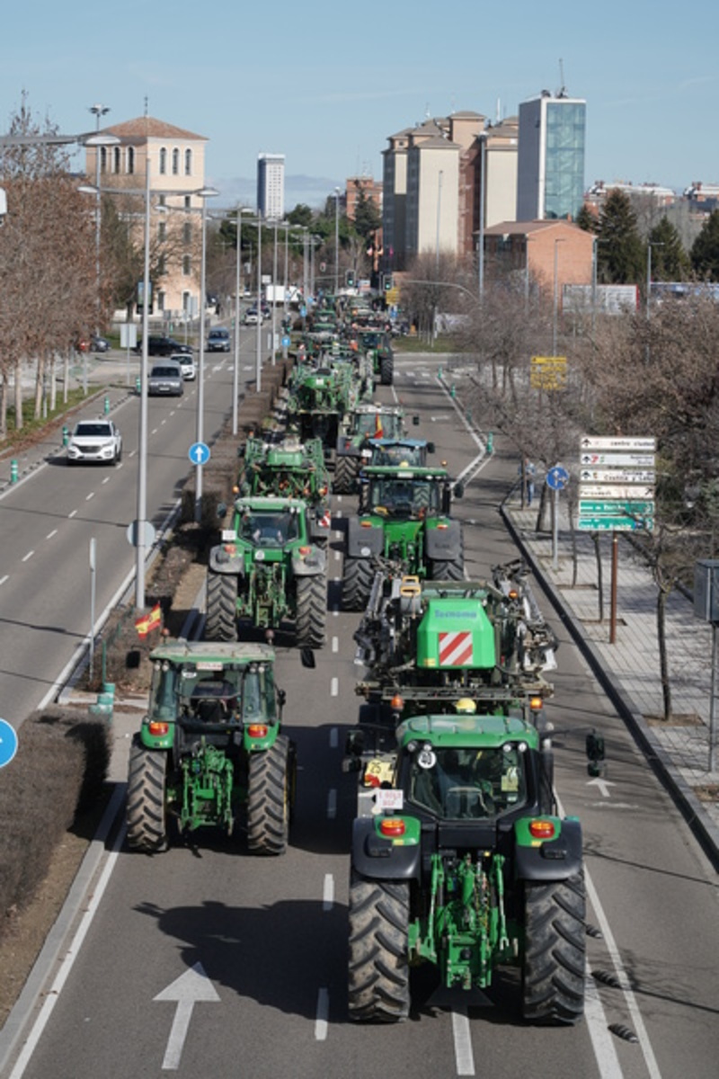
[[[150,654],[148,713],[134,736],[127,843],[166,850],[176,833],[232,834],[240,814],[249,849],[287,849],[295,753],[280,733],[285,692],[266,644],[168,641]]]

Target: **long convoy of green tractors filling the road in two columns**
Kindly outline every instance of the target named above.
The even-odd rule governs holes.
[[[483,999],[520,972],[526,1021],[584,1007],[579,821],[562,817],[544,702],[556,642],[521,562],[465,576],[461,497],[403,411],[384,326],[314,311],[294,341],[284,418],[239,447],[232,506],[207,556],[203,641],[151,655],[148,713],[129,762],[127,835],[154,853],[198,829],[237,828],[257,855],[289,842],[295,747],[275,684],[278,633],[326,643],[331,495],[346,521],[342,601],[358,612],[359,707],[344,770],[357,777],[350,845],[348,1009],[410,1015],[411,971],[438,1002]],[[418,418],[413,419],[413,424]]]

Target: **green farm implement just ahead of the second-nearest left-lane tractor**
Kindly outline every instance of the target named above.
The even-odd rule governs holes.
[[[326,548],[332,523],[330,474],[319,438],[307,442],[293,435],[281,439],[248,438],[240,454],[239,493],[245,497],[275,494],[306,502],[312,541]]]

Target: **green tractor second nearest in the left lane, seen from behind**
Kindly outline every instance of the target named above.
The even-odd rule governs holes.
[[[226,513],[221,504],[219,516]],[[324,644],[326,551],[312,542],[304,502],[240,496],[209,552],[205,638],[236,641],[247,620],[272,639],[285,619],[294,622],[300,647]]]

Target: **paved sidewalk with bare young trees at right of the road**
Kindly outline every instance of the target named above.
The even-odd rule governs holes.
[[[626,538],[619,534],[617,640],[610,644],[610,533],[602,544],[605,610],[599,624],[596,559],[586,533],[576,537],[577,585],[571,587],[566,501],[559,500],[556,570],[552,568],[551,532],[535,531],[537,507],[522,509],[517,491],[502,506],[502,516],[618,713],[719,869],[719,770],[708,771],[711,627],[694,615],[691,601],[681,592],[670,593],[666,632],[675,715],[666,724],[661,719],[656,588]]]

